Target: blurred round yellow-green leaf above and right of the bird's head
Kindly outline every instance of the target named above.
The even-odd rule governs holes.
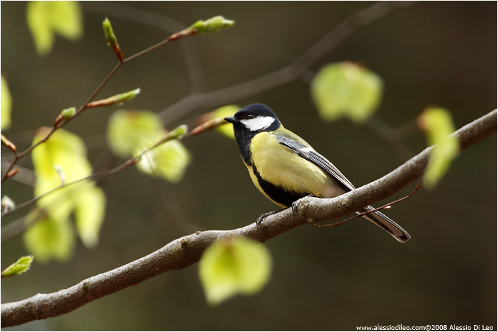
[[[341,62],[324,66],[311,82],[311,95],[324,120],[346,116],[364,122],[382,97],[382,80],[367,68]]]

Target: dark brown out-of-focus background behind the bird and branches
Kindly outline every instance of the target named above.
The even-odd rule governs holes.
[[[82,3],[84,36],[78,42],[57,37],[51,53],[38,57],[26,26],[26,3],[2,1],[1,72],[13,100],[12,126],[4,133],[19,150],[26,148],[37,128],[53,124],[62,109],[84,103],[117,63],[102,33],[104,17],[111,19],[129,56],[167,38],[175,22],[190,26],[223,15],[235,21],[232,28],[167,44],[129,62],[99,98],[140,87],[142,93],[123,107],[160,113],[167,129],[195,125],[201,114],[224,104],[267,104],[359,187],[403,163],[379,138],[379,124],[407,133],[404,151],[414,155],[426,145],[414,119],[428,105],[449,109],[457,128],[497,107],[497,3],[415,3],[358,28],[313,64],[310,75],[324,64],[349,60],[382,77],[385,93],[367,125],[322,121],[306,80],[256,92],[251,87],[199,107],[171,107],[192,87],[216,91],[288,66],[342,21],[373,4]],[[196,69],[192,74],[188,68]],[[64,127],[84,138],[94,165],[107,151],[107,121],[116,109],[89,109]],[[89,250],[78,241],[66,264],[35,259],[28,273],[2,281],[1,302],[73,286],[185,234],[239,228],[275,210],[252,185],[234,140],[210,132],[184,144],[192,163],[181,183],[150,178],[133,167],[107,178],[101,184],[107,210],[97,248]],[[9,158],[2,147],[2,162]],[[32,167],[28,159],[20,165]],[[6,181],[1,194],[19,204],[33,198],[33,187]],[[195,264],[66,315],[6,331],[353,330],[376,324],[496,328],[496,134],[463,151],[435,190],[419,190],[388,214],[412,235],[409,242],[400,244],[362,219],[340,228],[303,225],[266,243],[273,275],[263,291],[215,308],[205,302]],[[2,227],[21,215],[2,219]],[[27,254],[21,237],[3,242],[1,268]]]

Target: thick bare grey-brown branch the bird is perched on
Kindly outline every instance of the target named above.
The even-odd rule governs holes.
[[[497,110],[465,125],[453,135],[459,138],[461,149],[465,149],[496,130]],[[386,199],[421,177],[431,149],[425,149],[386,176],[342,196],[334,199],[306,198],[299,204],[296,214],[291,209],[286,209],[268,216],[259,229],[252,223],[236,230],[196,232],[176,239],[150,255],[85,279],[62,291],[37,294],[19,302],[2,304],[1,327],[69,313],[94,299],[144,282],[161,273],[186,268],[199,261],[205,248],[216,239],[235,236],[264,242],[308,221],[326,221],[353,213],[366,205]]]

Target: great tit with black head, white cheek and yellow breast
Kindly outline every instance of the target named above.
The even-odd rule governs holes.
[[[275,113],[264,104],[250,104],[232,118],[235,139],[252,182],[270,201],[289,208],[304,196],[331,198],[355,187],[329,160],[305,140],[284,128]],[[374,210],[371,206],[357,213]],[[257,225],[269,214],[257,219]],[[397,223],[376,211],[363,217],[400,242],[410,239]]]

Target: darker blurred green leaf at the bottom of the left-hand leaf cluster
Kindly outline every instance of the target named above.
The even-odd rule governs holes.
[[[28,224],[35,221],[37,214],[28,216]],[[40,263],[50,259],[68,261],[73,255],[75,235],[71,223],[55,221],[49,216],[42,217],[24,232],[26,248],[32,252]]]

